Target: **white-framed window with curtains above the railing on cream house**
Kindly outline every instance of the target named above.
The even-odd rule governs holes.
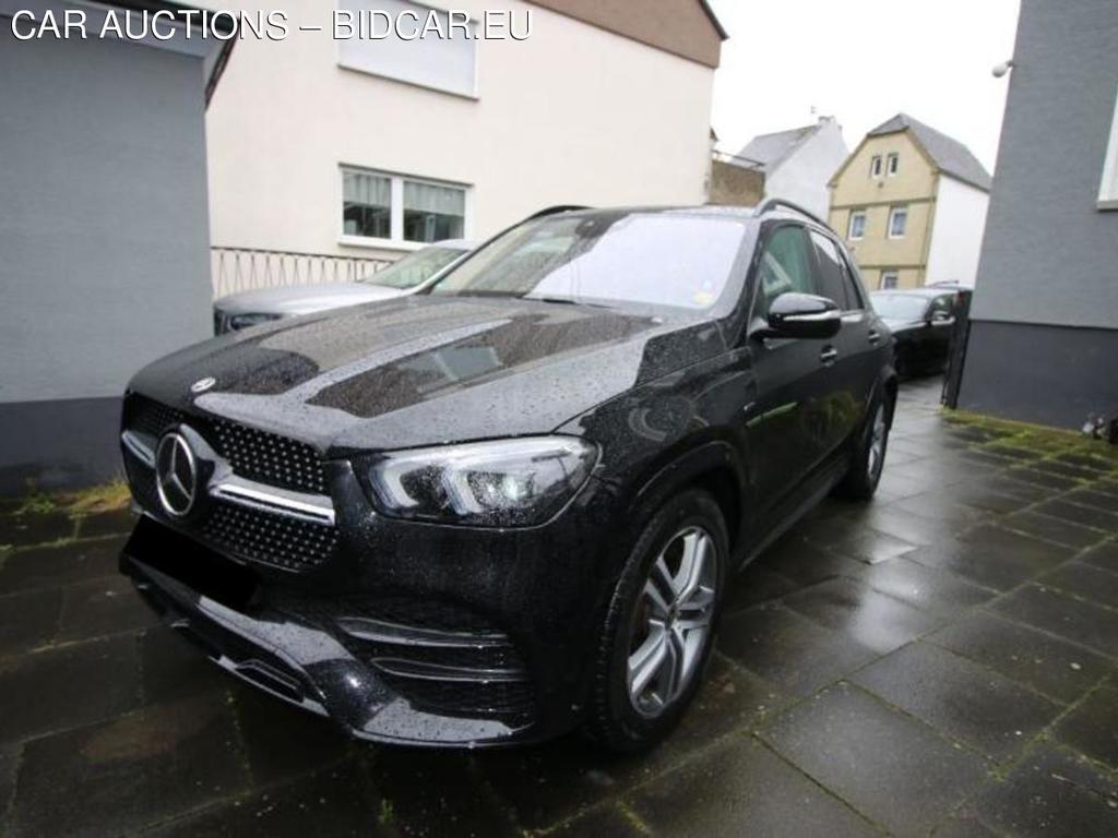
[[[381,242],[465,236],[466,188],[342,166],[342,235]]]

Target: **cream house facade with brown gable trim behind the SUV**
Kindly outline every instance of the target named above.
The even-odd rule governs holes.
[[[405,41],[287,0],[292,34],[238,42],[207,114],[214,246],[391,259],[552,204],[702,202],[724,34],[700,0],[647,6],[463,0],[474,39]],[[339,3],[366,7],[432,13]],[[498,7],[518,38],[476,39]]]

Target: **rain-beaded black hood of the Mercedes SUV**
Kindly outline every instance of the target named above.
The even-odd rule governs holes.
[[[417,296],[206,341],[145,368],[131,389],[329,454],[546,434],[722,351],[708,321]],[[195,397],[202,377],[216,383]]]

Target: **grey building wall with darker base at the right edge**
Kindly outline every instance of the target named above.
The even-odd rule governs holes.
[[[1118,411],[1118,212],[1097,206],[1116,45],[1112,0],[1022,3],[960,407]]]

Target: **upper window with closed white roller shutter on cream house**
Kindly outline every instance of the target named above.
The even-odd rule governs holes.
[[[477,95],[477,41],[464,12],[404,0],[340,0],[338,6],[341,20],[352,28],[351,37],[338,40],[342,67],[459,96]]]

